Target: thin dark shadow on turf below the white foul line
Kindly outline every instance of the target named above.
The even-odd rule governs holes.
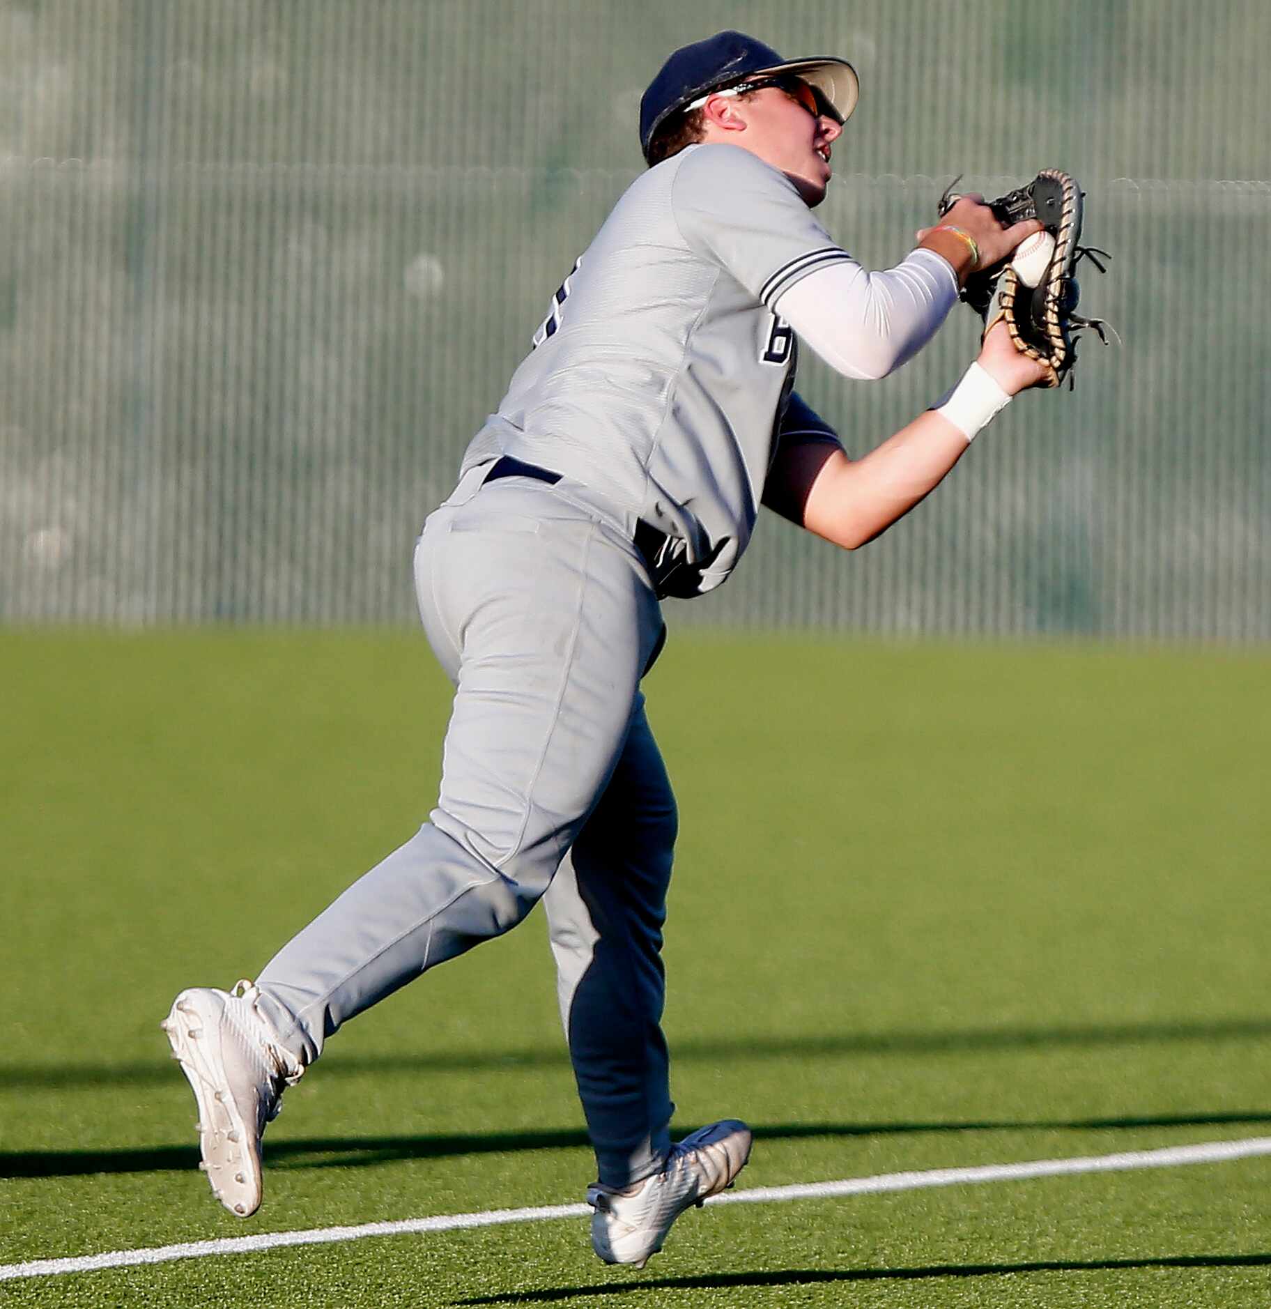
[[[454,1305],[554,1304],[586,1296],[639,1296],[653,1291],[728,1291],[742,1287],[797,1287],[827,1282],[923,1282],[940,1278],[1001,1278],[1028,1272],[1123,1272],[1137,1268],[1261,1268],[1271,1254],[1179,1254],[1145,1259],[1054,1259],[1035,1263],[946,1263],[929,1268],[784,1268],[772,1272],[721,1272],[702,1278],[661,1278],[592,1287],[554,1287],[507,1296],[452,1300]]]

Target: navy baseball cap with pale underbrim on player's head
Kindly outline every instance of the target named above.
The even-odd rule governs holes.
[[[860,84],[846,59],[783,59],[745,33],[717,31],[677,50],[649,82],[640,99],[640,149],[645,160],[658,128],[695,99],[741,81],[781,73],[801,77],[840,119],[856,107]]]

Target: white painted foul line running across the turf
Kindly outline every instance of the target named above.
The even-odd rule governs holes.
[[[767,1204],[776,1200],[823,1200],[843,1195],[878,1195],[885,1191],[916,1191],[931,1186],[963,1186],[975,1182],[1018,1182],[1030,1177],[1064,1177],[1073,1173],[1120,1173],[1140,1168],[1178,1168],[1185,1164],[1220,1164],[1236,1158],[1271,1155],[1271,1136],[1233,1141],[1203,1141],[1198,1145],[1170,1145],[1164,1149],[1126,1151],[1117,1155],[1086,1155],[1079,1158],[1039,1158],[1022,1164],[982,1164],[974,1168],[932,1168],[920,1173],[881,1173],[877,1177],[851,1177],[842,1182],[808,1182],[795,1186],[755,1186],[745,1191],[716,1195],[708,1204]],[[190,1241],[148,1250],[111,1250],[65,1259],[31,1259],[27,1263],[0,1263],[0,1282],[14,1278],[41,1278],[64,1272],[96,1272],[141,1263],[169,1263],[198,1259],[209,1254],[255,1254],[295,1245],[327,1245],[334,1241],[360,1241],[368,1236],[408,1236],[420,1232],[456,1232],[496,1227],[503,1223],[542,1223],[590,1213],[586,1204],[547,1204],[530,1210],[487,1210],[482,1213],[442,1213],[428,1219],[398,1223],[361,1223],[357,1227],[310,1228],[305,1232],[262,1232],[259,1236],[223,1237],[217,1241]]]

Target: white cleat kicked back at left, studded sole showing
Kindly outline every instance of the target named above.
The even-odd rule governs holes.
[[[241,1219],[260,1207],[260,1136],[283,1090],[305,1071],[257,1009],[259,991],[182,991],[160,1024],[199,1105],[199,1149],[212,1194]]]

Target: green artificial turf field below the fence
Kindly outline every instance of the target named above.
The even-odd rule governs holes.
[[[0,1263],[573,1203],[541,915],[332,1039],[236,1221],[158,1030],[432,804],[407,632],[0,635]],[[742,1186],[1268,1135],[1271,657],[675,634],[678,1121]],[[1271,1161],[584,1220],[0,1282],[13,1305],[1271,1302]]]

